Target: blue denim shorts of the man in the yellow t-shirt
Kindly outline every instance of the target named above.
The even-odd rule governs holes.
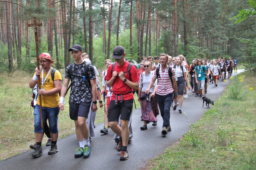
[[[58,130],[58,115],[59,115],[59,107],[42,107],[43,114],[43,124],[46,122],[48,118],[49,129],[52,134],[56,134],[59,132]],[[40,106],[35,105],[34,108],[34,133],[41,133],[44,130],[41,127],[41,116],[40,116]]]

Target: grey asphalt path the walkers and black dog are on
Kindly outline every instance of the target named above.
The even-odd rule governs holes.
[[[233,73],[233,76],[236,74]],[[212,83],[208,83],[208,93],[206,96],[216,101],[225,91],[229,82],[229,79],[226,82],[219,80],[217,87]],[[140,130],[140,127],[143,126],[143,121],[140,120],[141,109],[133,110],[133,138],[129,140],[127,148],[129,153],[128,160],[119,160],[120,152],[116,150],[117,144],[113,140],[113,131],[109,128],[109,134],[102,135],[100,130],[103,128],[103,123],[100,123],[96,125],[95,137],[92,138],[93,141],[91,142],[91,154],[88,158],[74,158],[75,149],[79,148],[79,144],[76,135],[72,134],[58,140],[59,152],[54,155],[48,155],[49,146],[44,145],[41,157],[33,158],[31,156],[33,151],[31,150],[0,161],[0,169],[128,170],[144,167],[149,159],[162,154],[166,148],[177,142],[182,135],[188,132],[189,124],[196,123],[204,112],[208,110],[207,107],[202,107],[202,99],[192,95],[191,91],[188,91],[187,94],[188,98],[183,99],[182,111],[185,112],[184,114],[179,114],[178,108],[173,111],[171,107],[170,125],[172,131],[168,132],[166,136],[161,135],[162,118],[160,115],[157,116],[157,126],[152,126],[152,123],[150,123],[147,125],[147,130]],[[137,99],[137,96],[135,98]]]

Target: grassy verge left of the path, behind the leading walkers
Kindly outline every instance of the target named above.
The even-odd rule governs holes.
[[[98,71],[102,85],[103,70]],[[60,73],[64,77],[64,69]],[[0,160],[29,151],[29,145],[35,141],[33,108],[30,108],[32,90],[29,88],[32,76],[33,74],[18,71],[0,75]],[[69,93],[65,97],[65,109],[60,111],[58,118],[59,138],[75,133],[74,121],[69,118],[68,99]],[[139,102],[135,101],[137,108],[140,107]],[[104,107],[100,108],[98,105],[95,123],[103,121]],[[45,144],[46,141],[47,137],[44,136],[42,143]]]

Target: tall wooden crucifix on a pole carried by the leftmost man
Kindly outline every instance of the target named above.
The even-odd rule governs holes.
[[[37,35],[37,27],[43,26],[42,23],[37,23],[37,18],[33,17],[33,24],[28,24],[28,27],[33,27],[34,29],[34,36],[35,36],[35,49],[37,51],[37,69],[40,69],[39,67],[39,53],[38,53],[38,35]],[[38,75],[38,89],[41,89],[41,82],[40,82],[40,75]],[[39,103],[40,103],[40,116],[41,116],[41,126],[42,129],[44,128],[43,124],[43,114],[42,114],[42,98],[41,95],[39,95]]]

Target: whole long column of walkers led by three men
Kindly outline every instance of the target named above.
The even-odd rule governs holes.
[[[134,90],[137,90],[138,101],[141,104],[141,119],[143,126],[141,130],[147,129],[147,124],[152,122],[157,125],[157,115],[163,119],[162,135],[167,135],[171,131],[170,108],[182,113],[183,98],[187,98],[187,89],[190,85],[193,93],[203,98],[207,93],[207,82],[209,79],[215,82],[219,72],[222,71],[223,60],[202,61],[195,59],[188,66],[183,55],[172,58],[165,53],[159,57],[141,57],[138,65],[129,63],[125,59],[125,49],[116,46],[113,49],[112,59],[105,60],[106,70],[102,72],[102,89],[100,91],[97,68],[91,65],[87,53],[83,53],[80,45],[73,45],[71,52],[74,63],[67,66],[65,78],[61,86],[62,77],[58,70],[52,68],[54,61],[49,53],[42,53],[39,61],[42,69],[35,69],[33,78],[29,82],[29,87],[35,89],[38,83],[38,76],[41,76],[41,89],[37,93],[34,101],[34,136],[35,144],[30,145],[34,149],[33,157],[42,155],[42,139],[44,132],[48,134],[47,145],[51,146],[48,154],[58,152],[58,114],[64,109],[64,98],[69,88],[69,115],[74,120],[75,133],[79,148],[76,149],[74,157],[88,157],[91,152],[91,137],[94,133],[94,120],[99,106],[103,107],[101,95],[104,101],[104,127],[101,133],[108,134],[109,127],[116,134],[117,150],[121,151],[120,160],[127,160],[129,157],[127,145],[132,137],[131,118],[134,100]],[[155,62],[153,63],[153,61]],[[228,61],[231,61],[229,59]],[[213,64],[214,63],[214,64]],[[232,61],[234,63],[234,61]],[[229,64],[229,63],[228,63]],[[229,65],[226,64],[226,67]],[[236,60],[236,66],[238,61]],[[236,68],[236,67],[234,67]],[[228,68],[227,68],[228,69]],[[230,70],[230,69],[229,69]],[[190,73],[190,83],[188,79]],[[231,72],[231,71],[230,71]],[[232,72],[229,74],[231,76]],[[213,78],[212,78],[213,77]],[[222,77],[225,79],[225,77]],[[69,81],[71,84],[69,85]],[[199,90],[198,90],[199,89]],[[59,95],[60,93],[60,95]],[[184,95],[185,94],[185,95]],[[37,97],[40,95],[40,97]],[[184,97],[183,97],[184,95]],[[41,101],[40,101],[41,100]],[[41,110],[40,111],[40,105]],[[42,113],[42,118],[40,114]],[[41,119],[44,128],[41,126]],[[46,120],[48,119],[49,128]]]

